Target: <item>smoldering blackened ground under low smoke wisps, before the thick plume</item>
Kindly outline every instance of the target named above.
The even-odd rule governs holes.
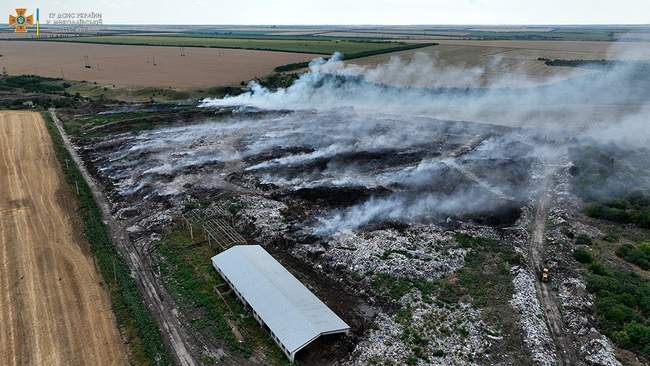
[[[324,199],[332,202],[310,223],[324,235],[385,220],[511,215],[537,161],[521,132],[353,110],[296,111],[123,135],[95,148],[108,149],[97,165],[130,201],[228,186]],[[329,200],[345,190],[363,199]]]

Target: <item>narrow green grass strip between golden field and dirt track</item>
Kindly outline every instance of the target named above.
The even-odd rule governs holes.
[[[70,188],[74,187],[75,182],[79,186],[79,195],[76,197],[78,214],[84,224],[84,236],[90,243],[95,262],[110,293],[111,305],[118,325],[129,340],[133,363],[171,365],[158,324],[143,303],[129,267],[111,243],[108,229],[90,188],[74,163],[70,164],[69,168],[65,168],[64,161],[72,161],[72,157],[66,150],[63,139],[50,116],[45,114],[44,118],[66,182]]]

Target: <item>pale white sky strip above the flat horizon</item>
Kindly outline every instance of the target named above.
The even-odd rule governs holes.
[[[650,0],[0,0],[104,24],[650,24]],[[5,16],[6,17],[6,16]],[[6,19],[2,20],[6,22]]]

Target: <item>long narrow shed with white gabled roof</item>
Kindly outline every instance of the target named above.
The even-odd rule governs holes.
[[[293,362],[325,334],[350,330],[341,318],[259,245],[236,245],[212,265]]]

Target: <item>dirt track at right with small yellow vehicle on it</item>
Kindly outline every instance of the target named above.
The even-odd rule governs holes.
[[[554,172],[554,167],[546,167],[543,188],[537,203],[535,221],[533,222],[530,236],[530,260],[532,269],[536,274],[541,273],[542,268],[544,268],[544,233],[546,231],[546,217],[548,216],[551,201],[550,190],[553,186]],[[542,310],[546,315],[548,329],[557,347],[558,362],[562,365],[577,365],[575,350],[570,338],[567,337],[564,331],[565,326],[555,294],[550,289],[548,283],[541,281],[536,283],[535,289],[537,290],[537,297],[542,305]]]

